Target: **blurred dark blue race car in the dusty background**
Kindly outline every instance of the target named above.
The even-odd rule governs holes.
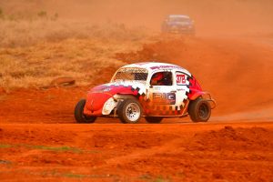
[[[162,32],[195,35],[194,21],[188,15],[168,15],[162,24]]]

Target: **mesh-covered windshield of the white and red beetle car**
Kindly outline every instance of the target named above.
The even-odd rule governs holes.
[[[147,81],[147,75],[148,71],[145,68],[123,67],[116,72],[112,82],[126,80]]]

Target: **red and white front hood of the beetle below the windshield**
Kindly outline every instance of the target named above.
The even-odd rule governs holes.
[[[146,95],[146,84],[137,81],[112,82],[93,87],[89,93],[105,93],[114,96],[116,94],[126,94],[141,96]]]

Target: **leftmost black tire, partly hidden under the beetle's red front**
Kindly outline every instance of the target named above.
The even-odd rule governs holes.
[[[96,116],[84,115],[84,108],[86,106],[86,99],[81,99],[75,106],[74,116],[77,123],[94,123]]]

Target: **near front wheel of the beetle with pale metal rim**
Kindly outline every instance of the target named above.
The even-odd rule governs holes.
[[[136,124],[142,114],[142,106],[135,98],[127,98],[117,108],[117,116],[122,123]]]

